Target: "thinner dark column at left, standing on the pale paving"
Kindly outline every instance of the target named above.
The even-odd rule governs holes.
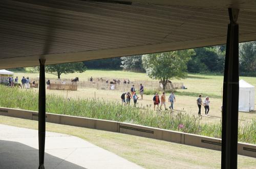
[[[39,143],[39,169],[45,168],[45,137],[46,137],[46,85],[45,85],[45,62],[39,60],[39,97],[38,97],[38,143]]]

